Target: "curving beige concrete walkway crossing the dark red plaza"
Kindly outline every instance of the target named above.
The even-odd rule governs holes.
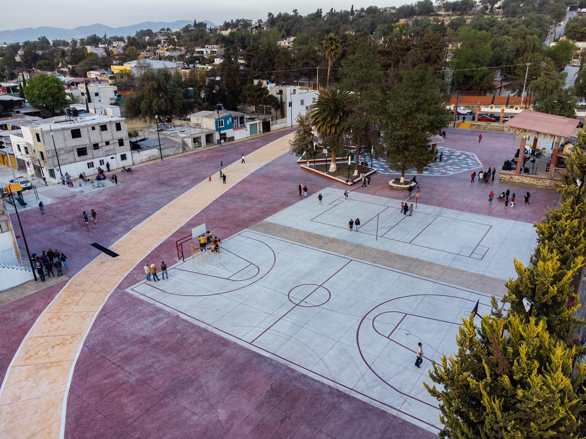
[[[207,180],[171,201],[77,273],[39,316],[0,388],[0,438],[59,438],[77,356],[96,315],[118,283],[169,235],[234,184],[289,150],[292,134],[224,168],[226,184]],[[153,233],[156,232],[156,233]],[[157,239],[157,237],[159,239]]]

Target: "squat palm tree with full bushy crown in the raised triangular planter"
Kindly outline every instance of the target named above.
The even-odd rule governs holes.
[[[336,172],[336,152],[344,148],[343,126],[350,114],[351,95],[340,88],[326,88],[311,105],[311,124],[332,152],[330,172]]]

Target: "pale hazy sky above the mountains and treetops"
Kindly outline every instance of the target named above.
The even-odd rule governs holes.
[[[393,6],[411,3],[407,0],[369,0],[360,5],[355,3],[354,8],[362,6]],[[221,5],[221,6],[220,6]],[[101,23],[113,28],[134,25],[145,21],[175,20],[210,20],[222,24],[224,20],[236,18],[266,19],[267,12],[291,12],[297,8],[299,13],[306,14],[322,8],[323,12],[330,8],[350,9],[352,0],[333,0],[329,2],[298,0],[295,2],[274,2],[268,0],[237,1],[224,0],[223,2],[205,2],[193,0],[169,0],[165,2],[152,0],[102,0],[98,2],[71,3],[70,1],[29,0],[26,2],[26,13],[6,14],[0,21],[0,30],[20,28],[38,28],[52,26],[54,28],[72,29],[78,26]]]

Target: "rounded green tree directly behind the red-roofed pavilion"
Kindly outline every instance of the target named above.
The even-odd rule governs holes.
[[[577,99],[574,87],[565,88],[566,76],[566,72],[544,73],[529,85],[537,111],[575,118]]]

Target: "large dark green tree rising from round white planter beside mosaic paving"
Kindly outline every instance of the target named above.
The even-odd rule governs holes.
[[[430,136],[451,120],[441,88],[433,73],[415,68],[403,73],[403,81],[386,98],[382,124],[387,162],[401,172],[401,183],[407,170],[415,167],[421,173],[434,160]]]

